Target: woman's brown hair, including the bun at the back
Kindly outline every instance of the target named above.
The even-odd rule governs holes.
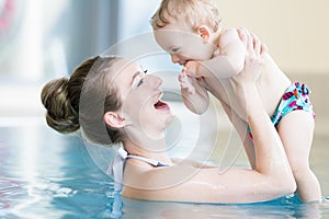
[[[70,78],[55,79],[42,90],[47,124],[61,134],[82,128],[88,140],[110,145],[123,140],[123,134],[103,120],[105,112],[121,108],[116,84],[111,83],[112,65],[118,57],[92,57],[81,62]]]

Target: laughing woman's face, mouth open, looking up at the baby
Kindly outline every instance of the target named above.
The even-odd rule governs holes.
[[[170,107],[160,101],[162,80],[147,74],[136,62],[120,60],[113,66],[113,82],[122,99],[125,128],[134,128],[147,136],[158,137],[172,120]]]

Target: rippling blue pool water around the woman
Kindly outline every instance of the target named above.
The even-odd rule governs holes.
[[[319,154],[328,168],[327,148]],[[0,218],[329,218],[327,201],[307,205],[297,197],[250,205],[122,198],[81,139],[46,125],[0,127]],[[314,168],[328,195],[326,168]]]

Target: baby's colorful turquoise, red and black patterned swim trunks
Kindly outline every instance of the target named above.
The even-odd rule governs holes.
[[[283,94],[279,106],[276,107],[271,120],[276,127],[280,120],[293,111],[306,111],[313,115],[315,118],[316,114],[313,111],[313,105],[309,101],[308,94],[310,93],[306,84],[300,82],[295,82],[287,88],[286,92]],[[249,137],[252,139],[251,129],[248,126]]]

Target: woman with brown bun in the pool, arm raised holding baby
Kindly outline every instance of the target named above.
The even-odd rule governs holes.
[[[70,79],[48,82],[42,91],[47,123],[64,134],[80,128],[88,140],[97,143],[122,142],[125,165],[118,172],[123,172],[125,197],[253,203],[293,193],[296,185],[282,142],[254,85],[261,71],[261,49],[260,44],[253,48],[250,38],[242,38],[249,56],[243,72],[231,83],[241,93],[239,101],[254,135],[254,170],[229,169],[219,174],[216,166],[173,162],[164,141],[164,130],[173,116],[160,100],[161,80],[118,57],[91,58]]]

